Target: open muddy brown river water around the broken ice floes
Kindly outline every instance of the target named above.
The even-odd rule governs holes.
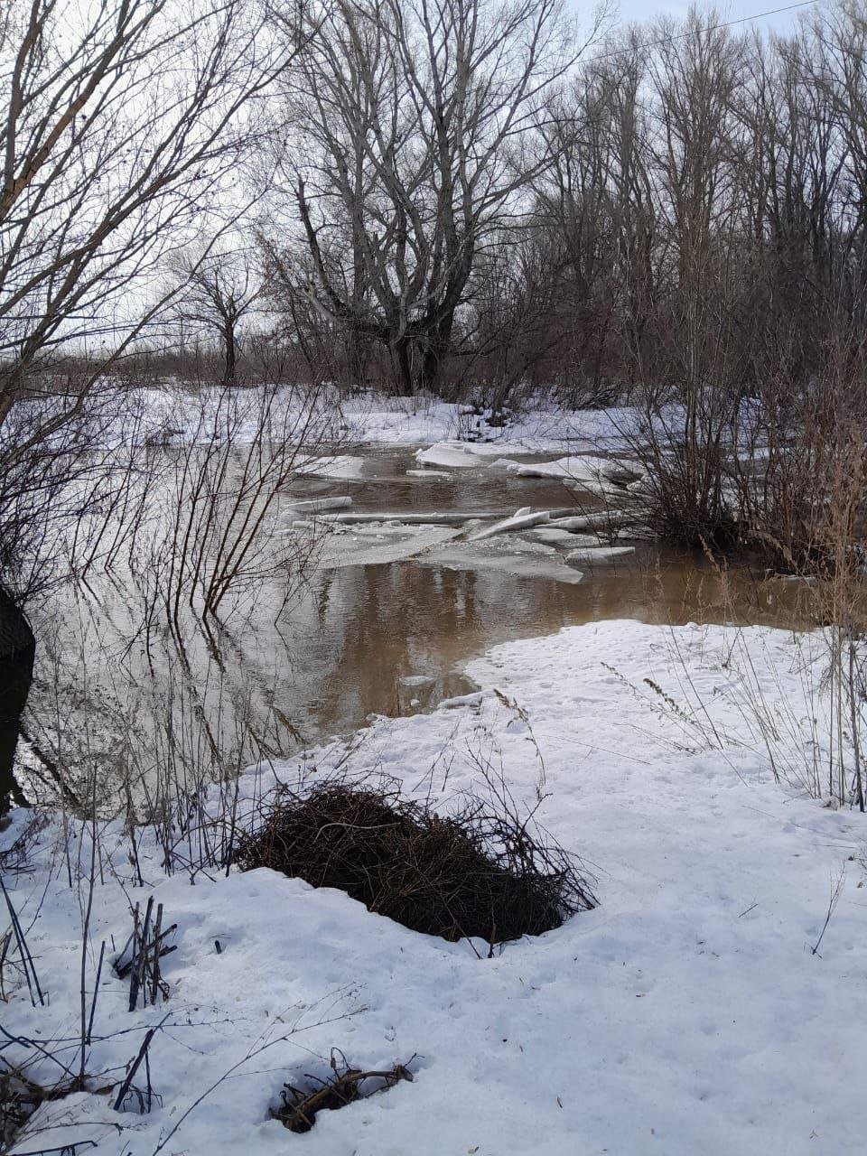
[[[363,452],[369,476],[310,479],[303,496],[348,494],[362,512],[468,516],[598,505],[557,481],[518,479],[484,464],[427,480],[407,476],[416,468],[410,449]],[[747,568],[722,581],[701,555],[652,542],[636,543],[632,564],[587,571],[579,585],[417,561],[348,565],[317,572],[282,609],[266,591],[252,612],[192,630],[183,662],[170,649],[154,661],[151,649],[149,664],[129,591],[91,577],[88,590],[67,592],[36,617],[31,710],[55,711],[52,680],[60,677],[77,688],[67,717],[87,716],[92,726],[104,711],[99,733],[117,748],[139,733],[136,712],[156,694],[163,709],[171,703],[183,718],[203,720],[207,742],[243,763],[351,732],[372,714],[412,713],[465,694],[474,688],[464,664],[509,639],[602,618],[808,625],[803,599],[800,584],[763,580]],[[163,741],[136,757],[147,772],[164,756]]]

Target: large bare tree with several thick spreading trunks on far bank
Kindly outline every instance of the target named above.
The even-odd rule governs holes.
[[[550,163],[531,131],[575,57],[561,0],[335,0],[311,31],[281,158],[307,294],[388,349],[400,392],[437,385],[480,254]]]

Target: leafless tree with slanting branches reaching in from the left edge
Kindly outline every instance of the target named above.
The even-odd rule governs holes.
[[[255,139],[292,49],[258,0],[12,0],[0,16],[3,571],[86,460],[88,399]],[[237,184],[237,183],[236,183]],[[212,214],[210,236],[222,224]],[[73,506],[74,509],[74,506]]]

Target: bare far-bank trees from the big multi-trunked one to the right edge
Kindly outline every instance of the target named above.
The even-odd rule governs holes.
[[[815,554],[867,430],[867,8],[576,51],[554,5],[340,0],[283,89],[272,299],[350,383],[628,398],[658,528]]]

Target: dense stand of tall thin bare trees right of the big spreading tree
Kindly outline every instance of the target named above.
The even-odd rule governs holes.
[[[557,287],[535,381],[679,394],[691,436],[864,332],[866,16],[769,43],[694,14],[580,67],[512,236],[519,296]]]

